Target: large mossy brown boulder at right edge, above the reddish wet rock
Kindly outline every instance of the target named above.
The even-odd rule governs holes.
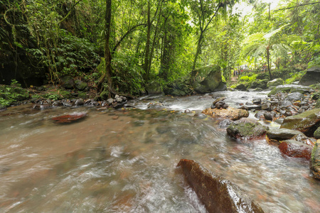
[[[306,136],[313,136],[320,126],[320,109],[304,111],[302,114],[288,116],[284,119],[280,129],[293,129],[303,132]]]

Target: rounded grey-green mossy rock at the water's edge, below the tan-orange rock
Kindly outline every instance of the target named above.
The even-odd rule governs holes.
[[[262,126],[253,119],[242,118],[233,122],[227,128],[228,136],[232,138],[251,139],[263,136],[267,132],[267,127]]]

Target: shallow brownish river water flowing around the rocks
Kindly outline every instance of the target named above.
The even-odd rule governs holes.
[[[142,97],[126,110],[26,104],[2,111],[0,212],[206,212],[176,169],[181,158],[234,182],[265,212],[319,212],[320,182],[308,161],[264,139],[234,141],[218,121],[198,115],[218,94],[237,107],[267,93]],[[166,110],[147,109],[150,102]],[[82,113],[73,124],[52,120]]]

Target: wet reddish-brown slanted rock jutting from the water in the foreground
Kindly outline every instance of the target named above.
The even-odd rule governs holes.
[[[229,180],[210,173],[194,160],[181,159],[181,166],[188,184],[195,190],[208,212],[263,212],[245,192]]]

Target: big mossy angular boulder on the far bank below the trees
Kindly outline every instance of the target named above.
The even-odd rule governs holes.
[[[193,80],[192,87],[198,93],[208,93],[226,90],[225,84],[222,82],[220,67],[211,65],[193,70],[196,76]]]

